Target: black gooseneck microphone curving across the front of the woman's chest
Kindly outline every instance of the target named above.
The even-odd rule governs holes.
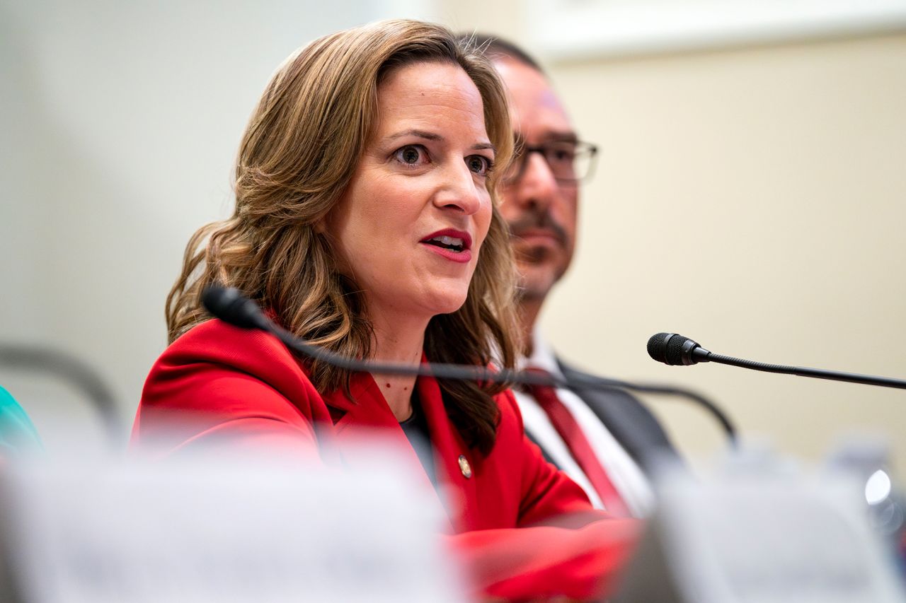
[[[372,362],[371,360],[351,359],[329,349],[314,346],[304,339],[284,330],[274,321],[265,316],[261,308],[246,298],[234,288],[208,285],[201,295],[201,302],[207,311],[233,326],[242,329],[259,329],[273,334],[287,348],[304,354],[313,359],[322,360],[327,364],[347,370],[365,371],[384,375],[414,375],[429,376],[434,378],[467,379],[489,381],[493,383],[511,383],[524,385],[553,386],[554,388],[567,389],[599,389],[611,391],[639,391],[650,394],[671,395],[687,397],[689,400],[704,407],[713,415],[730,441],[736,441],[736,428],[732,422],[713,402],[696,392],[681,388],[671,388],[656,384],[635,384],[618,381],[610,378],[594,377],[593,375],[575,374],[570,378],[556,375],[543,375],[534,372],[515,370],[490,370],[484,367],[458,365],[458,364],[422,364],[417,367],[408,365]]]

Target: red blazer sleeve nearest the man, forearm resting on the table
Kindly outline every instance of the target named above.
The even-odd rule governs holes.
[[[593,509],[583,489],[525,436],[512,392],[497,401],[497,442],[484,468],[498,472],[496,487],[503,496],[517,497],[518,527],[465,531],[449,536],[449,547],[465,564],[478,595],[507,600],[606,596],[634,549],[641,522],[612,519]],[[513,472],[518,472],[515,480]]]

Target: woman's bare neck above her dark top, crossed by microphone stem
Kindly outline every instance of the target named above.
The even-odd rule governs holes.
[[[374,356],[381,362],[416,367],[421,362],[425,347],[425,329],[428,321],[386,316],[372,319],[374,325]],[[412,414],[412,390],[415,388],[414,375],[371,375],[381,388],[387,406],[398,421],[404,421]]]

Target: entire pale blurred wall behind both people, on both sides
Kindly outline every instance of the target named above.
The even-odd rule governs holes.
[[[535,50],[601,149],[573,268],[543,317],[566,358],[695,388],[743,436],[804,459],[848,433],[888,438],[906,472],[902,390],[666,367],[644,349],[679,331],[729,355],[906,377],[900,21],[568,52],[539,25],[550,5],[516,0],[0,6],[0,340],[92,363],[124,430],[166,345],[188,236],[229,212],[231,163],[269,74],[321,34],[413,16]],[[39,429],[99,437],[58,379],[0,369],[0,384]],[[697,408],[651,402],[690,455],[723,445]]]

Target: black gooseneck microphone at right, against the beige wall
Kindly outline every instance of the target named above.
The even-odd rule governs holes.
[[[906,389],[906,381],[902,379],[843,373],[837,370],[787,367],[781,364],[766,364],[765,362],[723,356],[708,351],[708,349],[702,348],[697,341],[690,340],[688,337],[683,337],[677,333],[657,333],[652,335],[651,339],[648,340],[648,355],[658,362],[670,365],[688,366],[699,362],[717,362],[718,364],[728,364],[742,369],[761,370],[767,373],[848,381],[850,383],[881,386],[882,388]]]

